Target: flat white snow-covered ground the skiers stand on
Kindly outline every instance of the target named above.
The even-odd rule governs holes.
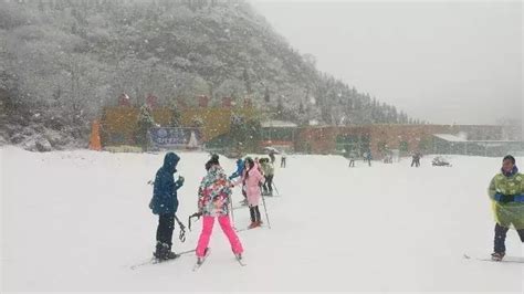
[[[208,155],[180,156],[178,216],[186,222]],[[425,157],[417,169],[408,159],[348,168],[338,156],[289,156],[289,167],[276,168],[282,196],[266,200],[271,230],[239,233],[248,266],[216,225],[200,271],[191,271],[192,255],[132,271],[154,248],[146,182],[163,157],[3,147],[2,292],[524,290],[522,264],[463,259],[492,251],[486,187],[501,159],[482,157],[451,157],[452,168]],[[233,171],[233,160],[221,161]],[[248,210],[234,217],[237,228],[249,224]],[[185,243],[177,227],[175,251],[196,246],[200,223]],[[524,253],[514,231],[506,246],[509,255]]]

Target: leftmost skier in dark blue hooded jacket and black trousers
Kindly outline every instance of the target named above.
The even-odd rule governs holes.
[[[171,251],[175,213],[178,209],[177,190],[184,186],[184,177],[179,176],[177,181],[174,177],[179,160],[178,155],[174,153],[166,154],[164,165],[156,174],[153,199],[149,203],[153,213],[158,216],[157,243],[153,255],[159,261],[179,256]]]

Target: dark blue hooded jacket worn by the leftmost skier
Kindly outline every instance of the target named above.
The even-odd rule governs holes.
[[[175,172],[180,157],[174,153],[166,154],[164,166],[160,167],[155,177],[153,188],[151,209],[155,214],[175,214],[178,209],[177,190],[182,182],[175,182]]]

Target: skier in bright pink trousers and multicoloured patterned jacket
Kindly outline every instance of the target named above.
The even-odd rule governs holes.
[[[209,239],[213,230],[214,218],[231,244],[231,250],[238,260],[242,259],[243,248],[239,237],[231,227],[229,219],[229,202],[231,181],[220,167],[218,155],[213,155],[206,164],[207,175],[198,189],[198,210],[203,216],[202,231],[197,245],[197,264],[201,264],[208,253]]]

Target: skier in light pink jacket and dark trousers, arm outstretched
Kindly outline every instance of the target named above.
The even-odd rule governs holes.
[[[263,181],[263,179],[264,177],[259,171],[255,161],[251,157],[248,157],[245,158],[245,167],[242,178],[232,183],[232,186],[245,186],[249,212],[251,217],[251,224],[248,227],[248,229],[253,229],[262,224],[259,210],[259,200],[261,197],[260,183]]]

